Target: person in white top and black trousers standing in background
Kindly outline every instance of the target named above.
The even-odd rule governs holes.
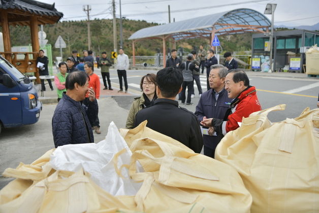
[[[119,55],[117,56],[117,76],[120,83],[120,90],[118,90],[118,93],[123,92],[123,83],[122,83],[122,77],[124,79],[124,86],[125,86],[125,93],[127,93],[127,89],[129,86],[127,85],[127,79],[126,79],[126,70],[129,69],[129,57],[124,54],[123,48],[120,48],[118,50]]]

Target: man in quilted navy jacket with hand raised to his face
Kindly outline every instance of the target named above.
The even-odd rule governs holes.
[[[66,144],[94,143],[89,117],[97,116],[98,104],[94,90],[88,88],[89,76],[82,71],[70,73],[66,79],[66,94],[57,104],[52,117],[55,148]],[[89,104],[82,101],[88,93]]]

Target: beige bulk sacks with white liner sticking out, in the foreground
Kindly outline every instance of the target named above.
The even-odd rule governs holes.
[[[249,212],[238,172],[146,127],[47,151],[0,191],[0,212]]]

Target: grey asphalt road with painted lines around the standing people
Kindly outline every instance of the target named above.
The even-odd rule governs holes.
[[[107,127],[114,121],[118,128],[124,128],[128,110],[134,97],[140,96],[140,79],[147,73],[156,71],[127,72],[129,81],[129,92],[136,96],[103,97],[99,100],[99,118],[102,130],[101,135],[94,134],[94,141],[103,140],[107,134]],[[97,72],[99,74],[99,72]],[[286,109],[281,112],[272,112],[269,119],[272,122],[281,121],[285,118],[294,118],[301,114],[306,108],[316,107],[319,92],[319,80],[307,78],[285,78],[285,77],[262,77],[248,75],[250,85],[258,89],[258,97],[263,109],[286,104]],[[116,71],[111,71],[112,87],[118,88]],[[201,76],[203,92],[206,91],[206,76]],[[198,90],[195,88],[194,105],[185,106],[188,110],[195,112],[199,101]],[[0,135],[0,173],[6,168],[15,168],[19,162],[29,164],[38,159],[45,151],[54,148],[51,119],[56,104],[46,104],[40,115],[38,123],[19,128],[5,129]],[[3,188],[10,178],[0,176],[0,189]]]

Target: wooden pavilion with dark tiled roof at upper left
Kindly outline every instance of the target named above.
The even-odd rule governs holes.
[[[5,50],[0,54],[5,55],[6,59],[21,73],[34,72],[37,76],[37,82],[40,82],[35,63],[40,49],[38,25],[54,24],[63,17],[63,13],[58,12],[54,8],[54,4],[50,5],[33,0],[0,0],[0,14]],[[33,52],[11,52],[9,25],[30,27]],[[24,59],[17,59],[17,54],[24,54]],[[33,59],[29,59],[29,54],[33,54]]]

